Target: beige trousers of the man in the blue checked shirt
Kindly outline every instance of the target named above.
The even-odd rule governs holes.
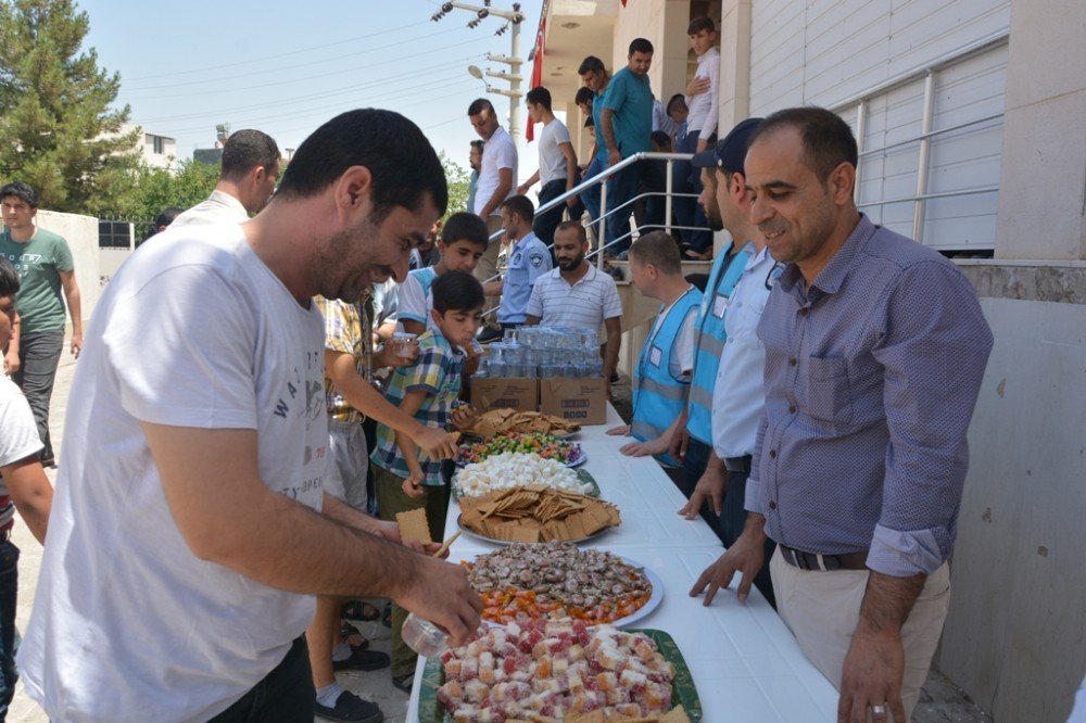
[[[868,571],[800,570],[785,562],[778,548],[770,560],[769,572],[784,624],[796,636],[807,658],[839,690],[842,667],[860,619]],[[901,699],[906,720],[912,716],[912,709],[917,707],[920,686],[927,678],[949,607],[950,568],[944,562],[927,576],[901,629],[905,644]]]

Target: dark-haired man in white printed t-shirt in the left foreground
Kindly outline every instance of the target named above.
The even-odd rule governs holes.
[[[312,720],[314,594],[390,597],[457,644],[459,566],[326,495],[324,324],[396,279],[447,203],[422,132],[374,109],[298,149],[243,225],[171,227],[98,302],[72,384],[54,513],[18,651],[58,721]],[[452,435],[405,426],[427,454]]]

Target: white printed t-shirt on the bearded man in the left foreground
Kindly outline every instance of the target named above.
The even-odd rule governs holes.
[[[256,430],[264,483],[319,510],[320,312],[291,296],[238,225],[169,228],[98,302],[66,416],[18,650],[27,693],[54,721],[207,720],[282,660],[314,598],[192,554],[140,422]]]

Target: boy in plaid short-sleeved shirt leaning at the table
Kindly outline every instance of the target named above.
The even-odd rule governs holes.
[[[466,271],[446,271],[430,287],[433,328],[418,338],[418,362],[401,367],[389,382],[389,402],[428,427],[458,427],[470,423],[460,419],[453,407],[460,392],[464,350],[471,345],[482,324],[485,297],[482,284]],[[374,492],[382,520],[395,520],[396,512],[425,509],[430,536],[444,535],[449,487],[441,477],[441,462],[419,459],[415,444],[406,434],[377,428],[374,462]],[[400,635],[407,611],[392,608],[392,683],[411,692],[416,656]]]

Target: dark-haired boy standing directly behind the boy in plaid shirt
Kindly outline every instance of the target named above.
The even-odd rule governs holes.
[[[433,295],[430,287],[446,271],[471,274],[487,251],[490,234],[487,223],[475,214],[453,214],[441,229],[438,253],[441,259],[433,266],[411,271],[399,291],[399,320],[404,331],[421,334],[433,329]]]

